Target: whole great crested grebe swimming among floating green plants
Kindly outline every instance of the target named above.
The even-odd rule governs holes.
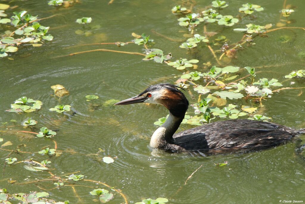
[[[173,152],[260,150],[274,147],[295,135],[305,133],[305,129],[293,130],[274,123],[238,119],[204,124],[174,134],[188,109],[188,100],[178,88],[172,84],[152,85],[141,94],[114,105],[144,102],[165,106],[170,112],[169,117],[152,134],[149,146]]]

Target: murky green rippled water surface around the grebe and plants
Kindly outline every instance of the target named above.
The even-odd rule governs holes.
[[[2,1],[8,3],[8,1]],[[2,3],[1,2],[1,3]],[[141,201],[143,198],[163,197],[169,203],[279,203],[279,200],[303,200],[305,202],[305,161],[296,154],[296,142],[247,154],[222,154],[200,156],[188,153],[169,154],[162,150],[149,148],[150,136],[156,129],[153,122],[167,115],[167,110],[158,105],[135,104],[129,106],[101,106],[109,99],[123,100],[135,96],[146,87],[154,83],[174,83],[181,75],[178,70],[165,64],[152,61],[142,61],[142,56],[91,52],[76,56],[53,58],[73,52],[91,49],[112,49],[129,52],[143,52],[142,46],[130,44],[118,48],[115,45],[96,45],[73,47],[87,43],[128,42],[133,37],[132,32],[147,33],[155,40],[155,48],[165,53],[171,52],[176,60],[179,57],[199,59],[199,70],[202,63],[211,61],[216,65],[212,54],[207,47],[198,48],[196,53],[187,53],[179,48],[180,43],[169,41],[151,32],[154,29],[173,39],[187,39],[182,37],[186,29],[178,25],[177,16],[170,9],[181,4],[180,1],[122,1],[115,0],[107,5],[108,1],[82,0],[70,8],[55,9],[47,5],[47,1],[27,0],[13,1],[11,6],[19,6],[15,10],[27,10],[39,18],[54,14],[58,16],[42,20],[40,23],[50,26],[49,33],[54,40],[41,47],[20,46],[18,52],[0,59],[0,122],[16,120],[16,124],[9,122],[6,129],[0,128],[1,144],[11,141],[13,145],[2,147],[14,150],[18,145],[21,151],[36,152],[12,153],[18,161],[33,158],[35,161],[49,159],[50,172],[61,176],[70,172],[81,171],[85,179],[104,182],[111,187],[120,189],[127,196],[129,203]],[[230,5],[222,13],[238,14],[238,8],[244,1],[229,1]],[[255,19],[245,17],[233,27],[219,27],[208,25],[208,31],[221,32],[229,39],[229,44],[242,38],[242,33],[232,32],[233,28],[243,28],[245,24],[253,23],[265,25],[272,23],[273,28],[279,22],[279,10],[283,7],[282,1],[252,1],[265,8],[263,12],[255,14]],[[210,1],[197,1],[194,11],[201,11]],[[287,1],[295,9],[289,19],[293,20],[289,26],[303,27],[303,1]],[[11,14],[12,9],[6,13]],[[75,23],[80,17],[92,17],[92,23],[87,27],[93,33],[90,36],[76,35],[81,25]],[[202,32],[203,25],[199,25]],[[3,28],[0,27],[3,32]],[[183,31],[183,32],[179,32]],[[297,56],[305,51],[305,32],[301,29],[282,29],[268,33],[267,37],[255,38],[256,45],[245,47],[238,51],[228,65],[245,67],[261,67],[257,71],[260,77],[276,78],[279,82],[285,81],[284,76],[293,70],[303,69],[304,61]],[[217,34],[220,35],[220,34]],[[282,35],[289,35],[291,40],[282,43]],[[219,46],[213,49],[219,49]],[[224,63],[224,66],[226,64]],[[241,77],[245,76],[241,72]],[[290,82],[294,84],[290,85]],[[304,80],[290,80],[283,83],[285,87],[302,87]],[[73,117],[63,116],[48,109],[59,104],[53,97],[50,86],[62,84],[70,91],[69,96],[61,99],[61,104],[69,104],[77,110]],[[305,128],[305,94],[302,89],[274,93],[272,98],[263,101],[261,113],[272,117],[274,123],[283,124],[292,128]],[[304,91],[304,90],[303,90]],[[198,94],[192,91],[195,99],[188,92],[187,98],[191,103],[196,102]],[[85,95],[98,95],[96,101],[87,102]],[[10,104],[21,96],[27,96],[43,102],[42,109],[32,113],[9,113]],[[252,100],[237,100],[236,104],[258,107]],[[92,104],[95,108],[92,109]],[[192,108],[189,109],[189,111]],[[27,118],[38,121],[39,128],[46,126],[52,130],[59,129],[57,135],[50,139],[29,137],[31,134],[16,133],[13,130],[26,130],[21,126]],[[217,119],[219,120],[219,119]],[[179,131],[192,128],[191,125],[181,125]],[[36,132],[39,131],[36,129]],[[35,132],[35,131],[34,131]],[[304,136],[299,138],[305,140]],[[53,140],[57,142],[57,150],[76,151],[81,154],[63,152],[59,157],[43,156],[37,152],[49,146],[54,148]],[[105,150],[96,154],[99,148]],[[4,159],[9,151],[0,150],[1,176],[0,188],[7,188],[10,193],[29,193],[43,191],[38,188],[51,189],[55,181],[45,181],[18,185],[35,179],[45,179],[48,172],[31,172],[23,168],[22,163],[5,165]],[[104,163],[104,156],[117,157],[111,164]],[[217,167],[214,163],[228,161],[228,165]],[[200,169],[187,181],[188,176],[197,168]],[[63,177],[65,178],[65,177]],[[16,180],[9,184],[8,180]],[[65,184],[68,184],[65,182]],[[91,187],[109,188],[86,181],[76,184]],[[38,186],[36,186],[38,185]],[[93,201],[94,196],[89,192],[94,188],[75,186],[77,196],[72,187],[63,186],[59,189],[47,191],[50,198],[56,201],[69,200],[70,203],[98,203]],[[123,203],[124,199],[115,193],[109,203]]]

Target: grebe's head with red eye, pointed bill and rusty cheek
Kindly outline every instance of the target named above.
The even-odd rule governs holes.
[[[114,105],[133,103],[156,103],[165,106],[175,117],[184,117],[188,109],[188,100],[179,90],[180,87],[172,84],[156,84],[148,87],[139,95],[117,102]]]

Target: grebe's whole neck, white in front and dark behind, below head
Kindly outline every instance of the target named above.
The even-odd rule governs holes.
[[[152,134],[149,146],[152,148],[162,149],[167,144],[172,143],[173,135],[179,128],[185,113],[180,116],[174,116],[171,112],[165,121],[156,131]]]

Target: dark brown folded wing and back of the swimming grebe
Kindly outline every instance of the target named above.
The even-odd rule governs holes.
[[[172,144],[185,150],[265,149],[291,139],[298,132],[291,128],[253,120],[227,120],[179,132]]]

